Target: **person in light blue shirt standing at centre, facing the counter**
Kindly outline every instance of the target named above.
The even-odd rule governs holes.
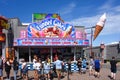
[[[54,61],[53,64],[55,65],[55,68],[56,68],[58,80],[60,80],[63,61],[59,60],[59,57],[56,57],[56,61]]]

